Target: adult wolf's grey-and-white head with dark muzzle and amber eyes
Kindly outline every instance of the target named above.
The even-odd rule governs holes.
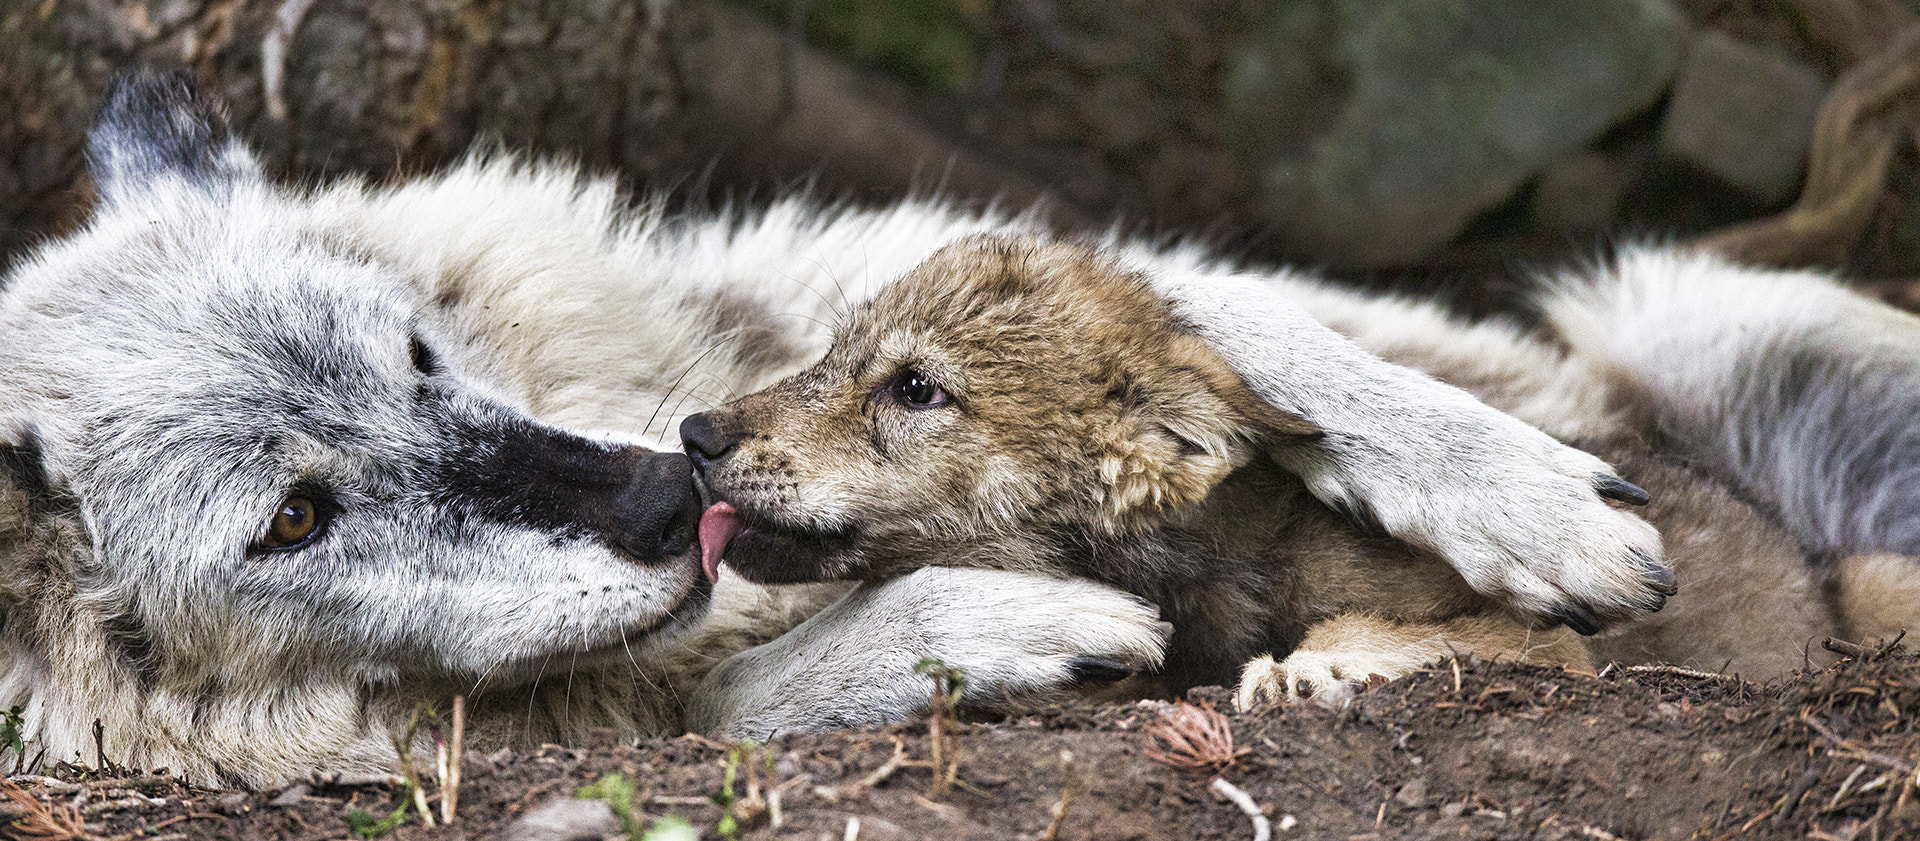
[[[0,290],[10,697],[94,655],[150,691],[467,691],[701,614],[685,457],[490,388],[422,278],[267,184],[186,77],[121,83],[90,154],[94,219]]]

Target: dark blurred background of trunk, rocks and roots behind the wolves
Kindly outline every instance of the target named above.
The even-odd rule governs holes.
[[[84,219],[108,79],[188,67],[284,179],[474,142],[708,207],[1029,204],[1513,305],[1620,238],[1920,275],[1901,0],[0,0],[0,265]]]

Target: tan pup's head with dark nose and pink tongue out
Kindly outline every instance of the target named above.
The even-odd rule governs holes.
[[[1263,436],[1311,434],[1139,275],[991,236],[885,288],[812,369],[682,424],[718,499],[708,568],[724,547],[762,582],[1058,568],[1179,518]]]

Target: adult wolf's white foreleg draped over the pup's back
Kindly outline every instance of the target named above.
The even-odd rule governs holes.
[[[1290,298],[1323,298],[1313,315],[1405,305],[1286,275],[1162,273],[1156,284],[1254,392],[1327,430],[1271,451],[1321,501],[1440,555],[1542,626],[1594,634],[1672,593],[1659,534],[1605,499],[1644,501],[1611,467],[1369,353]]]

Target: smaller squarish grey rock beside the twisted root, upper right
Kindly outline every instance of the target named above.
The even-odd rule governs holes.
[[[1764,204],[1799,192],[1826,77],[1793,58],[1701,33],[1680,63],[1661,152]]]

